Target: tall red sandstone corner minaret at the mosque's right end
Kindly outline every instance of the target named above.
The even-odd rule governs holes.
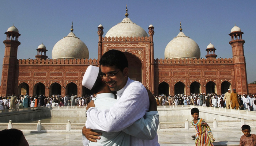
[[[238,94],[248,94],[248,84],[246,77],[246,63],[244,57],[244,43],[242,34],[239,27],[235,26],[231,29],[231,41],[229,44],[232,46],[234,73],[235,73],[235,86]]]

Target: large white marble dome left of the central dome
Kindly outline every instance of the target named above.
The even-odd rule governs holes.
[[[57,42],[52,49],[52,58],[83,59],[89,58],[87,46],[73,32]]]

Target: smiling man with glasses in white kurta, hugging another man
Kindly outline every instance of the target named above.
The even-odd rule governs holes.
[[[156,105],[154,97],[148,98],[147,89],[140,82],[128,77],[128,61],[123,52],[110,50],[102,55],[99,63],[103,73],[102,80],[112,92],[117,92],[118,101],[109,110],[104,111],[99,111],[93,103],[88,104],[86,128],[90,129],[83,128],[82,131],[92,142],[97,142],[99,137],[95,136],[91,129],[122,131],[144,117],[151,108],[149,100]],[[157,134],[153,140],[131,136],[130,142],[131,146],[159,146]]]

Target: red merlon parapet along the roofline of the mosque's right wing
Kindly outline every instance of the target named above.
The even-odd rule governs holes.
[[[233,64],[233,58],[173,58],[154,59],[155,64]]]

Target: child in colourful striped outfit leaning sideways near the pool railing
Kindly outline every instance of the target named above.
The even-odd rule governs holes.
[[[196,128],[196,146],[213,146],[212,142],[215,138],[211,134],[210,126],[199,118],[198,108],[191,109],[191,115],[193,116],[192,125]]]

